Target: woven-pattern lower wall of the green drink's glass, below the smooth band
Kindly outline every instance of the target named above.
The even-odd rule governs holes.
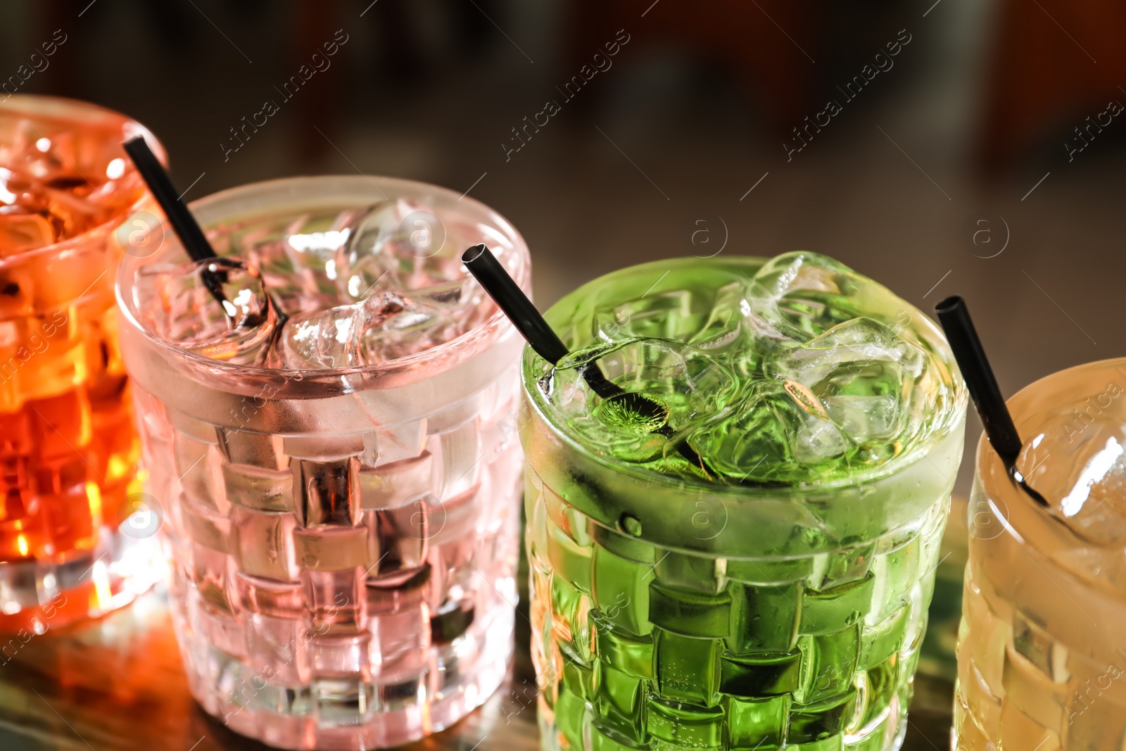
[[[947,501],[832,553],[712,557],[597,524],[528,470],[544,748],[897,748]]]

